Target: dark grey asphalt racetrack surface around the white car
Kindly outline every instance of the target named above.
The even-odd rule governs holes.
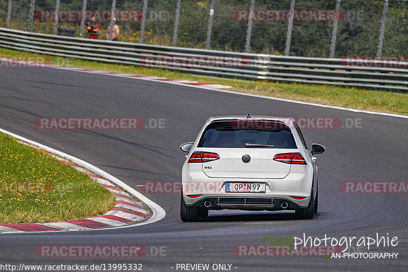
[[[166,211],[161,221],[135,228],[0,235],[2,264],[142,263],[144,271],[175,271],[177,263],[230,263],[236,271],[395,270],[408,265],[406,193],[343,193],[349,181],[407,182],[408,119],[321,108],[199,88],[51,68],[0,69],[0,127],[92,163],[133,188],[146,181],[180,181],[183,142],[195,139],[212,115],[361,118],[361,128],[303,129],[317,155],[319,212],[210,213],[206,222],[180,220],[179,193],[146,193]],[[165,129],[39,130],[40,117],[165,119]],[[264,236],[340,239],[389,234],[397,259],[325,259],[322,256],[235,256],[235,245],[260,245]],[[139,258],[39,257],[39,245],[165,246],[166,256]],[[370,250],[371,252],[372,250]],[[363,248],[361,252],[369,252]],[[171,268],[174,267],[174,268]],[[235,268],[237,267],[237,268]]]

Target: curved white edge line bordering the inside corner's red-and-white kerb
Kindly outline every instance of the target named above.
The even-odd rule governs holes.
[[[122,181],[118,180],[117,178],[113,177],[113,176],[112,176],[111,174],[109,174],[108,172],[106,172],[106,171],[104,171],[104,170],[102,170],[102,169],[100,169],[100,168],[98,168],[98,167],[96,167],[96,166],[94,166],[94,165],[92,165],[92,164],[90,164],[90,163],[84,161],[84,160],[81,160],[81,159],[79,159],[79,158],[73,157],[73,156],[68,155],[68,154],[66,154],[66,153],[64,153],[64,152],[55,150],[55,149],[53,149],[52,147],[43,145],[43,144],[41,144],[41,143],[38,143],[38,142],[35,142],[35,141],[32,141],[32,140],[29,140],[29,139],[27,139],[27,138],[24,138],[24,137],[22,137],[22,136],[19,136],[19,135],[17,135],[17,134],[14,134],[14,133],[12,133],[12,132],[7,131],[7,130],[4,130],[4,129],[1,129],[1,128],[0,128],[0,132],[3,132],[3,133],[5,133],[5,134],[7,134],[7,135],[10,135],[10,136],[12,136],[12,137],[14,137],[14,138],[16,138],[16,139],[21,140],[21,141],[25,141],[25,142],[28,142],[28,143],[30,143],[30,144],[32,144],[32,145],[38,146],[38,147],[40,147],[40,148],[42,148],[42,149],[44,149],[44,150],[46,150],[46,151],[48,151],[48,152],[50,152],[50,153],[54,153],[54,154],[56,154],[56,155],[58,155],[58,156],[60,156],[60,157],[63,157],[63,158],[65,158],[65,159],[67,159],[67,160],[70,160],[70,161],[72,161],[72,162],[74,162],[74,163],[76,163],[76,164],[78,164],[78,165],[81,165],[81,166],[83,166],[83,167],[85,167],[85,168],[91,169],[91,170],[94,171],[96,174],[99,174],[100,176],[102,176],[102,177],[104,177],[104,178],[106,178],[106,179],[112,181],[113,183],[115,183],[115,184],[118,185],[119,187],[125,189],[127,192],[129,192],[129,193],[131,193],[132,195],[134,195],[135,197],[137,197],[137,199],[139,199],[140,201],[142,201],[143,203],[145,203],[145,204],[151,209],[152,215],[151,215],[151,217],[148,218],[147,220],[142,221],[142,222],[139,222],[139,223],[137,223],[137,224],[133,224],[133,225],[127,225],[127,226],[122,226],[122,227],[115,227],[115,229],[119,229],[119,228],[133,228],[133,227],[136,227],[136,226],[151,224],[151,223],[154,223],[154,222],[157,222],[157,221],[163,219],[163,218],[166,216],[166,212],[164,211],[164,209],[163,209],[162,207],[160,207],[160,206],[159,206],[158,204],[156,204],[155,202],[152,202],[152,201],[149,200],[146,196],[144,196],[144,195],[141,194],[140,192],[136,191],[135,189],[133,189],[133,188],[130,187],[129,185],[127,185],[127,184],[125,184],[124,182],[122,182]],[[111,211],[111,212],[115,212],[115,211]],[[118,212],[118,211],[116,211],[116,212]],[[108,212],[108,213],[109,213],[109,212]],[[113,214],[112,214],[112,215],[113,215]],[[133,214],[132,214],[132,215],[133,215]],[[135,218],[136,218],[136,217],[140,218],[140,219],[136,219],[136,220],[142,220],[142,219],[144,219],[144,217],[142,217],[142,216],[137,216],[137,215],[134,215],[134,216],[135,216]],[[113,229],[113,228],[109,228],[109,229],[93,229],[93,230],[103,231],[103,230],[112,230],[112,229]],[[23,232],[23,233],[38,233],[38,232]]]

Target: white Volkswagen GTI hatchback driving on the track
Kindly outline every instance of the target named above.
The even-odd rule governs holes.
[[[194,142],[182,170],[180,215],[198,221],[209,210],[295,210],[298,218],[317,213],[315,154],[293,118],[210,117]]]

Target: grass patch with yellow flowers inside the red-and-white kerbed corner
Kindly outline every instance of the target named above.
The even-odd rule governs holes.
[[[53,156],[0,133],[0,223],[83,219],[115,206],[115,195]]]

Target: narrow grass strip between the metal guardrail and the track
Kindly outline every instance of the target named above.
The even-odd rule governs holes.
[[[30,52],[0,48],[0,56],[8,58],[45,56]],[[117,65],[80,59],[62,59],[47,56],[53,63],[68,64],[68,66],[93,70],[129,73],[152,77],[165,77],[181,80],[208,82],[229,85],[234,91],[285,98],[322,105],[338,106],[351,109],[369,110],[408,115],[408,93],[395,93],[383,90],[369,90],[354,87],[330,85],[287,84],[270,81],[245,81],[222,78],[209,78],[189,75],[159,68],[147,68],[129,65]]]

